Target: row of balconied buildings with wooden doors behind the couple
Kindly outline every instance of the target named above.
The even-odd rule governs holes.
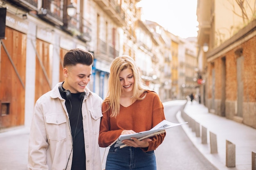
[[[151,29],[140,20],[137,2],[0,0],[1,19],[6,18],[0,36],[0,131],[30,126],[36,100],[64,81],[63,56],[72,48],[94,55],[88,88],[101,98],[108,91],[112,60],[126,54],[161,100],[170,100],[172,38],[161,26]]]

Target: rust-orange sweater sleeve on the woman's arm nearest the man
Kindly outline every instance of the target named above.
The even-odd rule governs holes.
[[[99,146],[108,147],[112,142],[114,142],[122,133],[124,129],[111,130],[110,125],[110,110],[106,111],[108,105],[106,102],[102,104],[102,114],[101,124],[99,129]],[[106,111],[106,112],[104,112]]]

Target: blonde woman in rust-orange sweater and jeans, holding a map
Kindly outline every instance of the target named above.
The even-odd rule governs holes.
[[[108,96],[102,104],[99,145],[107,147],[119,135],[148,131],[165,120],[159,96],[140,78],[135,61],[129,56],[114,59],[110,67]],[[166,133],[139,141],[123,140],[128,147],[109,149],[106,170],[156,170],[154,150]]]

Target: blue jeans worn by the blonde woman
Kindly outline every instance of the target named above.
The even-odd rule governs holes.
[[[114,148],[108,151],[106,170],[156,170],[154,150],[144,152],[141,148]]]

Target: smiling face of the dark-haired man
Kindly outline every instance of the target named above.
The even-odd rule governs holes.
[[[91,80],[92,65],[76,64],[63,69],[65,82],[63,88],[71,93],[84,92],[86,85]]]

